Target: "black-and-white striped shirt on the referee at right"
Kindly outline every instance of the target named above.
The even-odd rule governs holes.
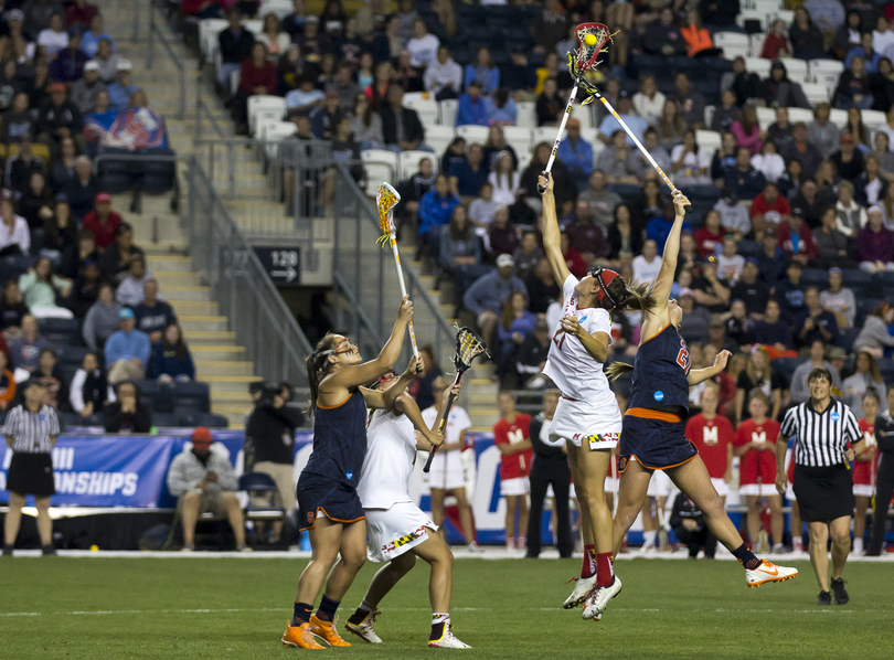
[[[834,400],[822,413],[817,413],[809,400],[789,408],[783,419],[783,434],[798,438],[795,464],[809,467],[847,462],[848,441],[856,444],[863,438],[851,408]]]

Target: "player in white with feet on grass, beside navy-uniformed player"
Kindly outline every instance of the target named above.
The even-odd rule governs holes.
[[[397,379],[395,373],[379,379],[374,388],[385,388]],[[459,385],[454,388],[459,392]],[[446,397],[445,397],[446,402]],[[432,634],[428,646],[468,649],[454,637],[449,606],[453,590],[454,555],[437,534],[438,526],[409,497],[409,478],[416,449],[428,451],[444,440],[432,429],[444,415],[441,407],[429,429],[416,402],[406,392],[391,409],[375,411],[366,430],[366,458],[363,461],[358,494],[366,514],[368,554],[373,562],[387,562],[373,576],[363,602],[345,627],[370,643],[382,643],[373,630],[379,603],[416,564],[419,556],[432,566],[428,595],[432,600]],[[418,430],[417,430],[418,429]]]

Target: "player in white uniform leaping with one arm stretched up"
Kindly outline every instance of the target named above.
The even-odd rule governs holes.
[[[634,289],[614,270],[599,267],[592,268],[581,280],[574,277],[562,256],[553,179],[549,173],[540,177],[540,188],[545,188],[543,246],[563,292],[562,320],[553,330],[543,368],[544,375],[562,392],[550,437],[564,438],[568,448],[585,550],[581,576],[564,604],[571,609],[595,590],[607,589],[614,597],[621,589],[620,579],[614,575],[611,510],[605,498],[608,461],[620,437],[621,414],[603,373],[603,363],[611,343],[609,313],[640,309],[646,289]],[[600,617],[598,613],[585,618]]]

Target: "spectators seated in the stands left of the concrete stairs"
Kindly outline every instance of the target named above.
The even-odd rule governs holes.
[[[164,118],[96,6],[0,4],[0,409],[36,379],[63,424],[148,433],[153,413],[174,412],[175,388],[207,401],[134,227],[113,209],[111,193],[129,191],[139,219],[143,192],[175,192],[172,163],[115,161],[170,156]]]

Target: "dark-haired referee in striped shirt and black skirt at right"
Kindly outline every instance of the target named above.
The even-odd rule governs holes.
[[[832,374],[828,369],[811,371],[807,386],[810,398],[789,408],[776,441],[776,490],[780,494],[786,492],[786,448],[788,438],[794,436],[797,441],[792,488],[810,533],[810,563],[820,586],[818,604],[832,603],[826,554],[831,534],[831,586],[836,604],[844,605],[849,597],[841,574],[851,551],[854,508],[850,461],[865,450],[865,444],[851,409],[840,401],[832,401]]]

